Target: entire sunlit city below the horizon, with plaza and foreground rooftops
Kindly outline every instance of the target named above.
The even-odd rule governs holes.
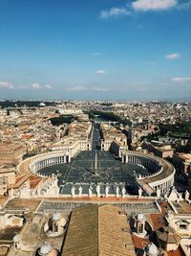
[[[189,255],[190,103],[0,105],[1,255]]]

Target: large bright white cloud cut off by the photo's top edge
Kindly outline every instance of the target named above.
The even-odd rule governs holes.
[[[161,11],[177,6],[177,0],[137,0],[132,3],[135,11]]]

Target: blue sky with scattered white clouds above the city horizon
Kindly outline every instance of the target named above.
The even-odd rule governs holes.
[[[191,0],[0,0],[0,99],[191,100]]]

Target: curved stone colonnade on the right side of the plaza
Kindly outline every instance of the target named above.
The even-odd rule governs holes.
[[[174,184],[175,168],[168,161],[158,156],[128,151],[123,153],[122,162],[134,163],[147,168],[151,175],[138,175],[138,183],[146,189],[148,185],[154,191],[165,194]],[[150,194],[150,193],[149,193]]]

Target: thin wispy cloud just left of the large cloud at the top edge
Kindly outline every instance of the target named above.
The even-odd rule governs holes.
[[[112,17],[119,17],[119,16],[129,15],[130,13],[131,12],[128,11],[124,7],[121,7],[121,8],[113,7],[110,10],[102,10],[100,12],[100,18],[108,19],[108,18],[112,18]]]

